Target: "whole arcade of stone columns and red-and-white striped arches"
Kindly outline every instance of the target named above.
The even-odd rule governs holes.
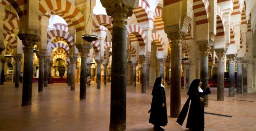
[[[4,84],[7,70],[8,59],[3,54],[9,52],[13,54],[14,87],[19,87],[19,73],[24,72],[22,106],[31,105],[35,67],[39,66],[38,92],[42,92],[57,58],[65,60],[71,90],[75,90],[76,67],[80,68],[80,99],[86,99],[86,76],[91,74],[93,57],[97,62],[97,89],[100,89],[102,66],[104,84],[107,74],[111,74],[110,130],[126,127],[126,84],[136,87],[137,72],[140,72],[142,93],[154,84],[157,76],[166,77],[168,85],[170,81],[171,117],[180,113],[182,70],[184,88],[188,88],[193,79],[200,78],[202,89],[206,89],[213,69],[216,70],[217,100],[224,101],[224,72],[228,63],[229,97],[235,95],[235,67],[236,93],[256,92],[256,59],[253,57],[256,56],[253,52],[256,33],[253,34],[254,26],[251,27],[255,25],[251,12],[256,2],[100,0],[106,12],[93,12],[93,26],[99,37],[94,42],[81,39],[90,0],[0,2],[0,33],[3,33],[0,35],[0,84]],[[92,0],[94,6],[104,10]],[[61,16],[67,25],[49,29],[52,15]],[[39,52],[34,54],[35,45]],[[183,49],[188,50],[189,60],[181,61]],[[126,62],[127,54],[132,56],[131,64]],[[208,96],[204,99],[207,107]]]

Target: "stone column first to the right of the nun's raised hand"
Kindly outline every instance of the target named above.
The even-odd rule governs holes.
[[[224,101],[225,52],[216,52],[218,56],[217,101]]]

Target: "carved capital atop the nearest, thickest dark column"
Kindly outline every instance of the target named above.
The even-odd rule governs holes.
[[[106,8],[107,15],[113,18],[113,27],[126,27],[126,19],[131,17],[139,0],[100,0],[100,2]]]

